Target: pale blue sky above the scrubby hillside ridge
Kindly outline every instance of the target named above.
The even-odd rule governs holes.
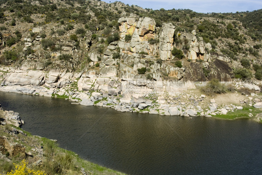
[[[103,1],[103,0],[102,0]],[[115,2],[115,0],[104,0]],[[246,12],[262,9],[262,0],[119,0],[148,9],[191,9],[199,13]]]

